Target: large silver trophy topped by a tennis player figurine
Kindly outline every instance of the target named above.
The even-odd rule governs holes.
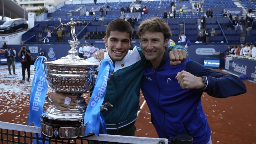
[[[61,22],[60,18],[58,20]],[[44,72],[48,86],[57,92],[69,94],[88,92],[92,90],[96,81],[98,64],[86,62],[78,56],[76,50],[77,45],[80,43],[77,41],[75,34],[75,24],[77,23],[81,22],[73,22],[73,18],[67,24],[61,23],[71,28],[73,40],[68,40],[71,46],[68,55],[52,62],[47,62],[47,59],[44,59]],[[50,101],[49,98],[48,101]],[[83,126],[83,123],[87,104],[85,99],[80,96],[76,98],[76,101],[78,106],[68,111],[58,110],[50,101],[52,106],[49,108],[44,107],[41,118],[42,134],[50,138],[84,137],[85,126]],[[111,107],[112,105],[105,103],[101,107],[101,111],[107,110],[109,106]],[[90,135],[92,134],[87,136]]]

